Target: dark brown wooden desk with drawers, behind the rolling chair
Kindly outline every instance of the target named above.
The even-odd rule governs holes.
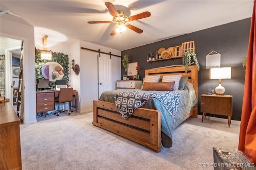
[[[77,95],[76,90],[73,90],[73,96],[75,98],[75,110],[77,108]],[[59,97],[59,91],[36,91],[36,113],[44,113],[44,117],[46,117],[47,111],[55,110],[55,97]]]

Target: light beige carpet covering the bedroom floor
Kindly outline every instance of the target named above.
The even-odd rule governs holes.
[[[213,163],[212,147],[237,149],[240,121],[189,118],[159,153],[92,125],[93,113],[72,113],[20,125],[23,170],[199,170]],[[54,115],[55,116],[55,115]],[[46,118],[47,119],[47,118]]]

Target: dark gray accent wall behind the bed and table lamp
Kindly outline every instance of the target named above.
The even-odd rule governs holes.
[[[206,69],[206,55],[212,50],[221,54],[221,67],[232,67],[231,79],[222,79],[222,86],[225,87],[224,94],[233,95],[233,120],[241,119],[242,101],[244,95],[244,77],[245,68],[242,67],[242,57],[247,55],[248,41],[250,34],[251,18],[208,28],[198,32],[185,34],[175,38],[162,40],[160,42],[150,43],[140,47],[121,51],[121,55],[129,54],[131,63],[138,62],[140,65],[140,75],[144,77],[144,70],[168,65],[181,65],[182,59],[171,59],[165,61],[147,62],[149,52],[156,53],[160,47],[167,49],[182,42],[195,41],[195,53],[200,64],[198,72],[198,114],[200,112],[200,95],[208,92],[208,88],[215,89],[218,86],[218,80],[209,79],[209,69]],[[171,30],[172,28],[170,28]],[[143,33],[142,33],[143,34]],[[138,38],[139,38],[138,34]],[[136,40],[134,40],[136,41]],[[125,73],[122,67],[123,75]],[[128,77],[132,79],[132,77]],[[223,116],[215,115],[216,117]]]

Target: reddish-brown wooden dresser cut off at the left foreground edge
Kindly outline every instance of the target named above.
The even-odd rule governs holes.
[[[21,170],[20,119],[10,102],[0,103],[0,169]]]

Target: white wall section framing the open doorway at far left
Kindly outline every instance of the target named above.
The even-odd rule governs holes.
[[[24,40],[24,123],[36,122],[34,27],[1,18],[0,36]]]

